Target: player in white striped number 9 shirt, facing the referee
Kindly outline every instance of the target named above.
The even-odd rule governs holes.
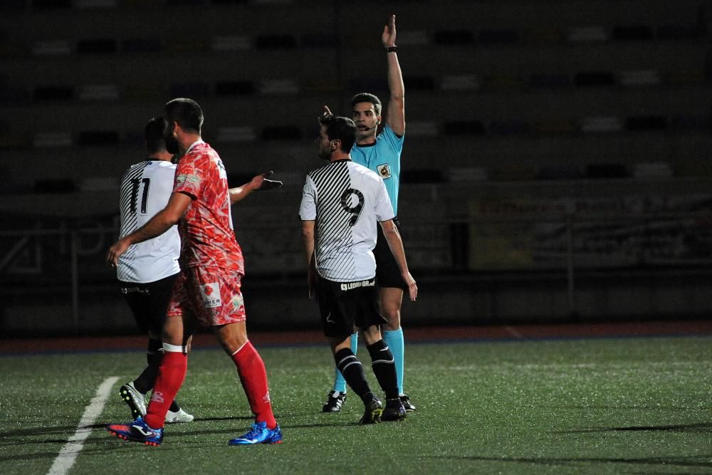
[[[310,172],[304,184],[300,217],[308,263],[309,295],[317,297],[324,334],[347,384],[365,404],[363,424],[400,420],[406,411],[399,399],[396,370],[380,325],[373,248],[381,226],[398,263],[411,300],[418,288],[408,271],[403,242],[382,179],[352,162],[356,126],[351,119],[323,115],[317,139],[319,157],[328,165]],[[362,332],[373,372],[385,392],[386,407],[370,389],[361,362],[350,348],[353,328]]]

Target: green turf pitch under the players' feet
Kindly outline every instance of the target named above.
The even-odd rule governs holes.
[[[167,426],[162,447],[103,429],[129,419],[117,390],[141,353],[2,356],[0,473],[47,473],[110,376],[119,382],[70,473],[712,473],[711,343],[413,344],[406,390],[417,412],[371,426],[356,423],[352,395],[341,413],[319,412],[333,378],[326,345],[258,348],[285,442],[257,447],[227,445],[252,417],[221,350],[191,355],[179,401],[196,420]]]

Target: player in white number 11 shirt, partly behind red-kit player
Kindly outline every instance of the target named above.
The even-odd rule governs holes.
[[[162,210],[171,192],[176,165],[163,140],[165,120],[152,118],[145,127],[147,160],[132,165],[121,180],[120,237],[131,234]],[[144,395],[152,390],[163,355],[161,328],[180,271],[177,226],[160,236],[133,244],[119,258],[116,277],[140,330],[148,334],[147,366],[132,382],[120,387],[121,399],[132,416],[145,416]],[[191,422],[193,416],[173,401],[166,422]]]

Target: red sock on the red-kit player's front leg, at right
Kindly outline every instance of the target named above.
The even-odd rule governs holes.
[[[232,360],[237,367],[242,387],[250,402],[250,409],[255,414],[256,422],[266,422],[268,429],[274,429],[277,427],[277,421],[272,414],[267,371],[260,354],[257,353],[252,343],[247,342],[237,353],[232,355]]]

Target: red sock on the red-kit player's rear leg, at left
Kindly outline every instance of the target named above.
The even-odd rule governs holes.
[[[164,353],[144,419],[152,429],[163,427],[168,408],[183,384],[187,371],[188,355],[177,351]]]

